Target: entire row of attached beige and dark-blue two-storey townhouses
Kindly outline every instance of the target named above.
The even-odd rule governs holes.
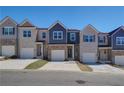
[[[28,19],[18,24],[7,16],[0,21],[0,56],[13,55],[124,65],[124,26],[109,33],[90,24],[83,30],[69,29],[60,21],[38,28]]]

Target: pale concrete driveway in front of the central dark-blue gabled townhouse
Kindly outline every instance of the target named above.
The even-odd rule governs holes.
[[[46,71],[78,71],[81,72],[75,61],[48,62],[40,70]]]

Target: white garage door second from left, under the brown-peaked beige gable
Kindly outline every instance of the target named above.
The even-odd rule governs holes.
[[[33,58],[34,57],[34,48],[22,48],[20,51],[21,58]]]

